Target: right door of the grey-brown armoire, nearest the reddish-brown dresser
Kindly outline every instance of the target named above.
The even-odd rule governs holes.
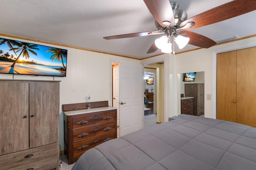
[[[29,99],[30,148],[58,142],[59,83],[30,83]]]

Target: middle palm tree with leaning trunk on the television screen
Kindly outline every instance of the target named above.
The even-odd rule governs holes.
[[[38,49],[36,44],[32,44],[32,43],[25,43],[25,42],[19,42],[19,44],[17,45],[18,47],[17,48],[12,48],[10,50],[17,50],[16,52],[18,51],[21,51],[20,52],[20,55],[23,54],[23,57],[25,57],[26,59],[29,58],[29,53],[32,53],[34,55],[37,55],[37,53],[35,51],[33,51],[32,49]],[[18,59],[20,58],[20,55],[16,58],[16,60],[14,61],[14,63],[11,65],[11,67],[14,67],[14,65],[16,64],[16,62],[18,61]]]

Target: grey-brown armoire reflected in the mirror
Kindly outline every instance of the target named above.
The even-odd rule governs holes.
[[[185,97],[194,97],[193,115],[204,115],[204,83],[185,84]]]

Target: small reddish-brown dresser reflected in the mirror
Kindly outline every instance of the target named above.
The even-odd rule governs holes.
[[[181,114],[194,115],[194,97],[180,98]]]

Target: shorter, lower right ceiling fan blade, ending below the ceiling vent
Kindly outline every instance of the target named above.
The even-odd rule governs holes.
[[[179,34],[187,34],[187,37],[190,38],[188,43],[198,47],[209,48],[216,44],[216,42],[211,40],[210,38],[207,38],[194,32],[184,30],[179,32]]]

